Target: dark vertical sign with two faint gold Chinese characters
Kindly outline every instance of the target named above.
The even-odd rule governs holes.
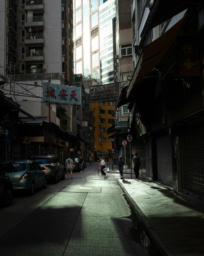
[[[199,76],[199,48],[196,37],[177,37],[179,76]]]

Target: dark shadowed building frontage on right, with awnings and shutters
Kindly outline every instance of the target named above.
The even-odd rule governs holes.
[[[203,49],[198,42],[204,40],[204,5],[174,7],[132,1],[128,131],[145,141],[148,177],[203,203]]]

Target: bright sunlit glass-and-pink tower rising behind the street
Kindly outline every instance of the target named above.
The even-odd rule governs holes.
[[[113,0],[75,0],[74,73],[113,82]]]

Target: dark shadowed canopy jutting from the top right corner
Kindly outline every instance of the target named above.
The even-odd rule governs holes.
[[[148,30],[171,19],[182,11],[192,7],[197,9],[198,5],[201,4],[203,4],[203,0],[154,0],[142,30],[141,37],[144,36]]]

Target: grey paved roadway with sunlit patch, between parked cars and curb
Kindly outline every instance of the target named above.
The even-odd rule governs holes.
[[[130,236],[131,211],[118,178],[98,176],[93,163],[34,196],[17,193],[0,208],[0,255],[147,255]]]

